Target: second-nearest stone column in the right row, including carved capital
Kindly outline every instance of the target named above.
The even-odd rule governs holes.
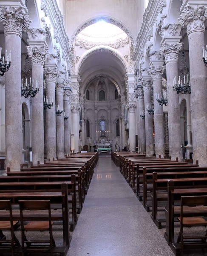
[[[167,103],[168,103],[168,131],[169,154],[172,160],[176,157],[181,160],[181,131],[180,131],[180,104],[179,94],[173,91],[173,79],[178,78],[178,53],[181,44],[170,43],[180,41],[180,37],[165,38],[161,46],[161,52],[165,57],[167,75]]]

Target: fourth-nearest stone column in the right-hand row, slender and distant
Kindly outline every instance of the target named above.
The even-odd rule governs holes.
[[[146,154],[153,156],[154,154],[154,139],[153,139],[153,114],[149,114],[147,104],[152,102],[151,76],[142,76],[142,86],[145,99],[145,138],[146,138]]]

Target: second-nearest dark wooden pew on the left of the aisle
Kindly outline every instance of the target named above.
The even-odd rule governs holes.
[[[72,219],[70,221],[71,231],[74,230],[77,224],[77,208],[76,208],[76,191],[75,183],[65,183],[68,187],[68,197],[71,203]],[[1,192],[61,192],[62,182],[50,181],[50,182],[1,182]]]

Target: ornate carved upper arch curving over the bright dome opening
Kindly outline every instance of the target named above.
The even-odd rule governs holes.
[[[135,44],[136,44],[136,38],[133,38],[132,33],[130,32],[130,30],[119,20],[115,20],[112,17],[107,17],[107,16],[99,16],[99,17],[94,17],[92,19],[87,20],[85,23],[82,23],[73,33],[73,35],[71,36],[71,40],[69,41],[69,46],[70,48],[72,48],[73,44],[74,44],[74,40],[77,37],[77,35],[83,30],[85,29],[87,26],[90,26],[98,21],[105,21],[108,23],[111,23],[115,26],[118,26],[120,29],[122,29],[126,35],[128,35],[128,37],[130,38],[132,44],[133,44],[133,48],[135,48]]]

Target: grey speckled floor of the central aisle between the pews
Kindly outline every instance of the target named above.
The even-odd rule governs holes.
[[[174,256],[111,157],[99,157],[67,256]]]

